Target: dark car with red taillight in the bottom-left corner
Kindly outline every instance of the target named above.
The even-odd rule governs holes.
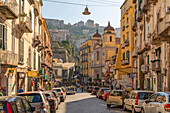
[[[0,113],[33,113],[35,107],[31,106],[24,97],[0,97]]]

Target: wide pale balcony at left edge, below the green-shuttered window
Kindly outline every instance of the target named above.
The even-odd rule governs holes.
[[[18,65],[18,54],[8,51],[8,50],[0,50],[0,63],[3,65]]]

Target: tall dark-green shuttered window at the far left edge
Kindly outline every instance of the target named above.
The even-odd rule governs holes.
[[[0,24],[0,49],[7,49],[7,34],[4,25]]]

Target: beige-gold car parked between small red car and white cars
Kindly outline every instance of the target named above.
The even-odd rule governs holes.
[[[106,90],[107,91],[107,90]],[[128,91],[126,90],[112,90],[110,91],[107,99],[107,107],[111,105],[123,105],[123,101],[125,97],[128,95]]]

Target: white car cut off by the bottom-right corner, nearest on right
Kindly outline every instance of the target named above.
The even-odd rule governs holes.
[[[143,103],[142,113],[170,113],[170,93],[154,93]]]

